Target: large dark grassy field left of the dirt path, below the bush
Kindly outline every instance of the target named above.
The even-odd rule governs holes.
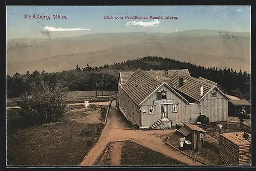
[[[7,164],[78,165],[98,140],[104,114],[94,105],[67,108],[57,123],[26,128],[17,126],[17,110],[7,110]]]

